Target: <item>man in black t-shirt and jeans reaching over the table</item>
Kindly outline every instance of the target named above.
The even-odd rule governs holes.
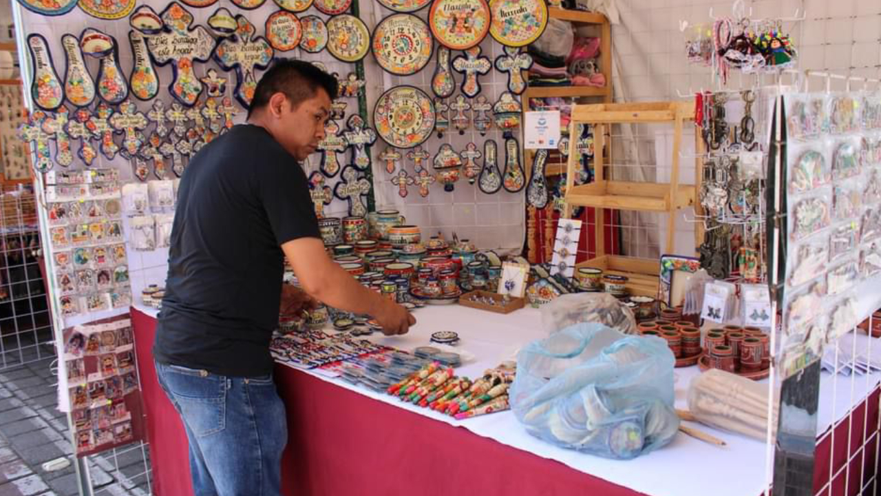
[[[181,179],[153,356],[187,432],[196,496],[279,494],[287,429],[269,346],[280,307],[318,300],[370,314],[389,335],[416,323],[324,252],[298,162],[324,138],[336,97],[326,72],[278,61],[248,124],[203,147]],[[285,256],[305,292],[283,289]]]

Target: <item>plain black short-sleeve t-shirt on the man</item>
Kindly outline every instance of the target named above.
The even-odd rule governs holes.
[[[272,370],[281,244],[321,237],[305,173],[262,127],[202,148],[178,190],[153,356],[235,377]]]

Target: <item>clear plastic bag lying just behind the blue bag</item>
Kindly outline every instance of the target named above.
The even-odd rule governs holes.
[[[560,329],[596,322],[624,334],[638,334],[633,312],[608,293],[574,293],[542,306],[542,327],[548,334]]]

